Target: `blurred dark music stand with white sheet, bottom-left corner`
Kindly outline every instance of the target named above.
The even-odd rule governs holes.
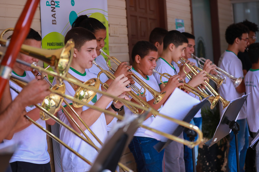
[[[0,172],[4,172],[8,165],[9,160],[13,156],[18,144],[16,143],[0,143]]]

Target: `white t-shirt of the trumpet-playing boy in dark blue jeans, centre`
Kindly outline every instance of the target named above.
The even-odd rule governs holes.
[[[134,69],[132,70],[132,72],[134,72],[140,79],[142,79],[151,88],[153,88],[156,91],[160,92],[159,85],[158,85],[158,83],[157,83],[157,81],[156,81],[156,79],[155,79],[155,77],[153,75],[147,76],[147,79],[145,79],[138,72],[136,72]],[[141,88],[140,85],[138,83],[136,83],[136,82],[135,82],[134,85],[136,85],[136,87],[138,87],[138,88]],[[146,90],[146,101],[149,101],[149,100],[152,100],[152,99],[154,99],[153,95],[148,90]],[[163,105],[161,107],[163,107]],[[158,111],[160,111],[161,107],[159,108]],[[132,112],[127,107],[125,107],[125,106],[124,106],[124,111],[125,111],[125,115],[131,115],[132,114]],[[155,119],[155,117],[152,115],[148,119],[146,119],[142,124],[145,125],[145,126],[149,126],[154,119]],[[135,132],[134,136],[151,137],[149,135],[144,134],[145,131],[146,131],[145,128],[139,127],[137,129],[137,131]]]

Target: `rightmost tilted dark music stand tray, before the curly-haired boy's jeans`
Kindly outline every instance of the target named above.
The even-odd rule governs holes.
[[[214,133],[213,138],[205,143],[206,146],[212,146],[213,144],[215,144],[231,132],[229,122],[237,120],[237,116],[243,104],[245,103],[246,98],[247,95],[243,95],[242,97],[235,99],[229,103],[229,105],[226,107],[227,109],[225,110],[224,114],[220,119],[220,122],[216,129],[216,132]]]

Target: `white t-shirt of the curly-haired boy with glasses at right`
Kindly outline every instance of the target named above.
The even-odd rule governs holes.
[[[219,60],[219,67],[226,71],[227,73],[233,75],[235,78],[244,77],[243,74],[243,68],[242,68],[242,62],[237,57],[237,55],[234,52],[226,50],[221,56]],[[239,97],[242,97],[245,93],[238,93],[237,90],[234,87],[233,81],[231,81],[230,78],[226,77],[226,83],[222,84],[219,87],[219,93],[220,96],[228,101],[231,101],[233,99],[237,99]],[[223,106],[222,103],[220,103],[220,116],[222,116],[223,112],[222,110]],[[246,112],[246,103],[243,104],[243,107],[241,108],[238,116],[238,120],[245,119],[247,117]]]

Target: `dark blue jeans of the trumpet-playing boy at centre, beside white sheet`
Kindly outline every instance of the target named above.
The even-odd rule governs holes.
[[[134,136],[129,150],[137,163],[138,172],[162,172],[164,151],[158,153],[153,146],[159,141],[149,137]]]

